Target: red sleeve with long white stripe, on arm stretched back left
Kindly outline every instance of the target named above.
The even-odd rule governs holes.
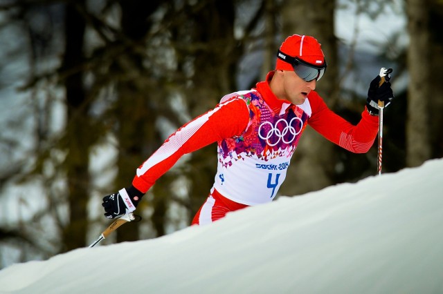
[[[249,121],[249,112],[243,99],[233,98],[218,104],[179,128],[165,140],[139,168],[132,181],[143,193],[154,185],[182,155],[208,146],[221,139],[241,135]]]

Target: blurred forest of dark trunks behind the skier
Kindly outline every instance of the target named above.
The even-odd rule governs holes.
[[[442,17],[440,0],[0,1],[0,268],[89,245],[109,224],[102,197],[179,126],[263,80],[295,33],[322,44],[316,90],[353,123],[379,68],[394,68],[384,173],[442,157]],[[103,244],[188,226],[215,148],[179,160],[138,206],[141,222]],[[280,195],[376,170],[377,144],[352,154],[307,128]]]

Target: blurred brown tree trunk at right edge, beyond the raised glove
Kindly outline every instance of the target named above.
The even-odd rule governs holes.
[[[408,14],[407,164],[443,157],[443,3],[406,1]]]

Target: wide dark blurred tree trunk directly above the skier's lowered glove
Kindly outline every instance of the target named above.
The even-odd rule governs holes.
[[[161,81],[153,78],[153,70],[146,68],[145,41],[149,42],[148,32],[152,28],[152,14],[159,10],[161,2],[123,0],[118,4],[121,9],[121,35],[119,39],[125,50],[111,63],[116,84],[116,138],[118,140],[118,176],[114,188],[120,189],[131,184],[136,168],[161,144],[161,134],[156,128],[159,117],[158,101],[165,95]],[[159,84],[156,84],[159,82]],[[142,206],[143,207],[143,206]],[[164,205],[156,205],[156,211]],[[158,224],[154,217],[154,228],[164,235],[163,220]],[[140,239],[138,223],[125,226],[117,231],[118,241]]]

